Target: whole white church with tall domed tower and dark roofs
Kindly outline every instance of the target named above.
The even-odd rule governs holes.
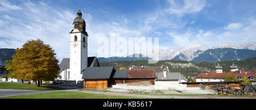
[[[60,62],[61,81],[83,81],[82,73],[86,67],[100,66],[96,57],[88,57],[88,33],[85,27],[86,23],[79,9],[70,32],[70,58],[63,58]]]

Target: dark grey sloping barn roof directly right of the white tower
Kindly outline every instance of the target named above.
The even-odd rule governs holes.
[[[114,67],[86,67],[82,79],[109,79],[113,73]]]

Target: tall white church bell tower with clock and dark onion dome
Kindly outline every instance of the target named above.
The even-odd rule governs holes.
[[[77,12],[73,21],[73,29],[70,32],[70,81],[82,81],[82,71],[87,67],[88,62],[88,33],[85,31],[85,21],[82,19],[82,12]]]

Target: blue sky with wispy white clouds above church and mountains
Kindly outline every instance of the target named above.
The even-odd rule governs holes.
[[[110,36],[158,37],[162,49],[256,41],[255,0],[0,0],[0,48],[40,39],[68,58],[79,5],[88,56],[101,57],[98,39]]]

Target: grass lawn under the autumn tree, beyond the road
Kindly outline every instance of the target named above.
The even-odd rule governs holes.
[[[36,84],[22,84],[22,83],[9,83],[9,82],[1,82],[1,89],[18,89],[18,90],[61,90],[63,88],[42,85],[41,87],[37,87]]]

